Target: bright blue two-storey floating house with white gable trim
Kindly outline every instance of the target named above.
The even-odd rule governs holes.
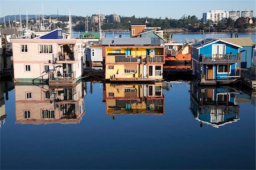
[[[191,45],[192,74],[199,84],[230,84],[240,78],[240,49],[221,39],[205,39]]]

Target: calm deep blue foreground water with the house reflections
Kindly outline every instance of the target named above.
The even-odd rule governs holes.
[[[255,169],[255,94],[191,82],[69,90],[18,85],[8,100],[1,92],[1,169]],[[58,118],[67,103],[76,106]],[[55,118],[42,118],[45,107]]]

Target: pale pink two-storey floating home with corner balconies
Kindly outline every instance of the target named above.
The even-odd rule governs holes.
[[[11,39],[15,82],[75,84],[82,76],[82,39],[63,39],[57,29],[35,39]]]

